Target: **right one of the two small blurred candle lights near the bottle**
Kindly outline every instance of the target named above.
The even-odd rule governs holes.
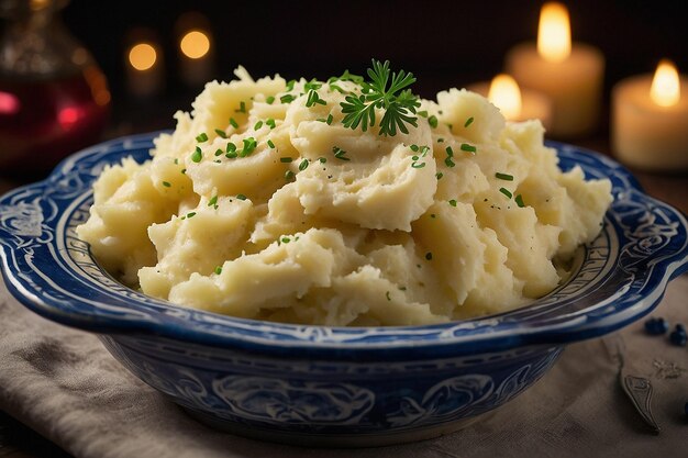
[[[176,24],[179,40],[179,71],[184,82],[200,87],[214,75],[214,49],[208,19],[200,13],[182,14]]]

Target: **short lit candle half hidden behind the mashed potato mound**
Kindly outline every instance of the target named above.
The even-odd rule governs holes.
[[[478,92],[501,111],[507,121],[537,119],[547,129],[552,104],[546,97],[533,90],[521,89],[509,75],[497,75],[490,83],[477,82],[467,89]]]

